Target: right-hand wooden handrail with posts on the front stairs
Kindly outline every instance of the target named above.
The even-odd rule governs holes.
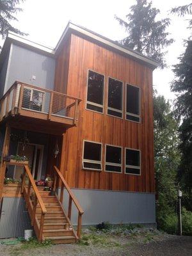
[[[72,202],[74,202],[74,205],[76,205],[76,208],[79,212],[78,214],[78,221],[77,221],[77,237],[81,237],[81,222],[82,222],[82,215],[84,213],[83,209],[81,208],[81,205],[79,205],[79,202],[77,201],[76,196],[72,193],[72,190],[69,188],[67,181],[64,179],[63,175],[61,174],[60,170],[54,165],[54,170],[58,174],[58,177],[61,180],[61,193],[60,193],[60,202],[63,204],[63,189],[67,189],[69,199],[68,199],[68,218],[70,220],[71,218],[71,212],[72,212]],[[54,179],[54,191],[56,190],[56,179]]]

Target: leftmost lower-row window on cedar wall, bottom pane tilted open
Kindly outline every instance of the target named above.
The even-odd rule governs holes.
[[[101,165],[102,144],[84,141],[83,144],[83,169],[102,170]]]

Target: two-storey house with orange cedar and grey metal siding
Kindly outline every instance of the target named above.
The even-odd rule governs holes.
[[[156,223],[156,67],[71,22],[54,49],[8,34],[0,56],[1,238],[32,225],[39,240],[72,243],[81,222]],[[29,163],[8,163],[10,155]],[[48,176],[52,192],[35,185]],[[4,177],[22,184],[3,185]]]

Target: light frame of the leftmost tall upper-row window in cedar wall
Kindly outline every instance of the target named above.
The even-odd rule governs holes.
[[[87,100],[87,97],[88,97],[88,78],[89,78],[89,71],[92,71],[92,72],[95,72],[95,73],[97,73],[97,74],[99,74],[99,75],[101,75],[101,76],[104,76],[104,83],[103,83],[103,102],[102,102],[102,105]],[[93,111],[93,112],[99,113],[99,114],[104,114],[105,80],[106,80],[106,76],[105,76],[104,74],[102,74],[102,73],[100,73],[100,72],[97,72],[97,71],[95,71],[95,70],[92,70],[92,69],[88,68],[88,70],[87,70],[87,79],[86,79],[86,101],[85,101],[85,109],[86,109],[86,110],[88,110],[88,111]],[[87,108],[87,104],[90,104],[90,105],[93,105],[93,106],[102,108],[102,112],[99,112],[99,111],[97,111],[97,110],[92,110],[92,109]]]

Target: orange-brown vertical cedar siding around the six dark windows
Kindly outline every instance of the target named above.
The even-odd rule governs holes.
[[[65,49],[70,49],[70,52]],[[58,61],[56,90],[82,99],[77,127],[72,127],[65,133],[61,152],[61,172],[69,186],[154,193],[152,69],[74,34],[63,45]],[[68,77],[65,77],[66,68]],[[85,109],[88,69],[105,76],[104,114]],[[108,77],[124,82],[124,119],[106,115]],[[140,87],[140,124],[125,120],[125,83]],[[103,144],[102,172],[82,170],[83,140]],[[122,173],[104,172],[105,143],[123,147]],[[141,150],[140,176],[124,173],[125,147]]]

